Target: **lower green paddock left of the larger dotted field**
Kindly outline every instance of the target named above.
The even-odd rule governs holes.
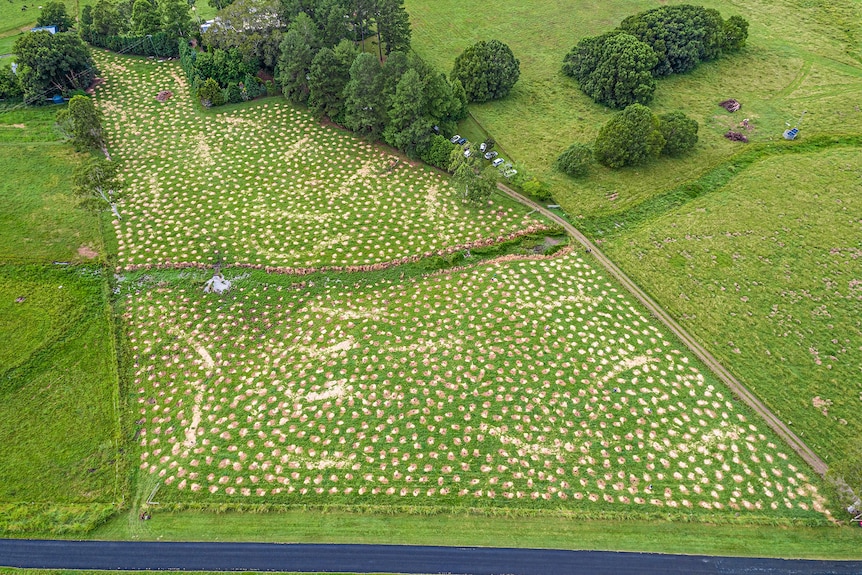
[[[98,268],[0,265],[0,532],[76,532],[120,497]]]

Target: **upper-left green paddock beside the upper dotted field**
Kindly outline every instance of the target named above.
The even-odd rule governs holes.
[[[0,110],[0,262],[101,261],[98,219],[71,190],[78,158],[53,129],[57,109]]]

